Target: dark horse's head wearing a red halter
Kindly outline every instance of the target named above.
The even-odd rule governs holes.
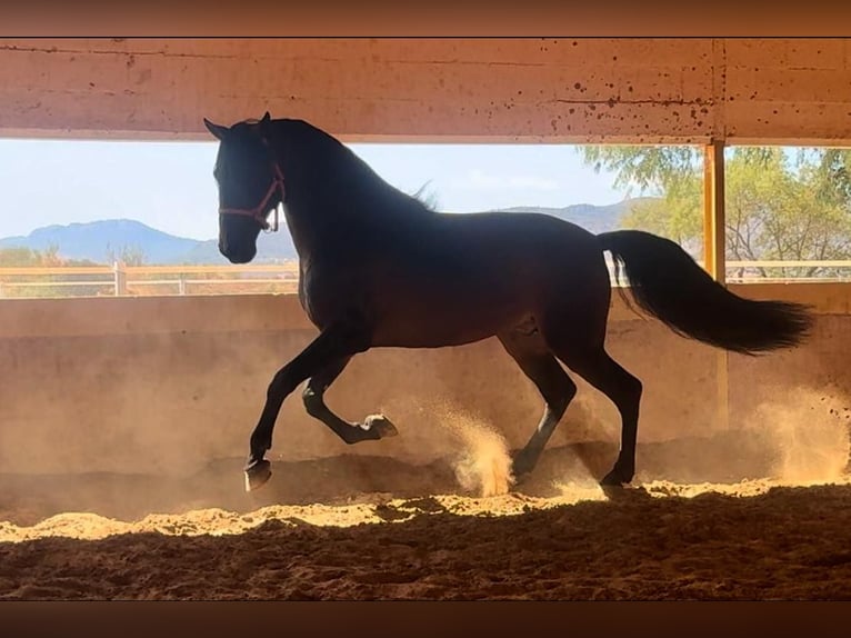
[[[278,206],[284,201],[283,176],[269,143],[267,112],[260,121],[232,127],[204,126],[218,140],[213,177],[219,185],[219,251],[233,263],[257,255],[261,230],[278,229]],[[274,211],[274,222],[269,213]]]

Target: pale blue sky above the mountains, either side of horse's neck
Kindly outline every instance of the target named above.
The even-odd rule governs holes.
[[[561,208],[624,199],[612,175],[561,144],[348,144],[382,178],[438,209]],[[134,219],[193,239],[218,232],[218,142],[0,139],[0,237],[50,225]]]

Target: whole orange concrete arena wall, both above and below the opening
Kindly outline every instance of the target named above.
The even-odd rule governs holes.
[[[208,139],[201,118],[307,118],[350,140],[848,143],[851,41],[0,40],[0,134]],[[731,420],[799,386],[851,388],[843,286],[748,287],[807,298],[805,348],[731,356]],[[615,298],[611,352],[645,383],[642,440],[721,427],[718,355],[632,318]],[[273,371],[313,335],[289,297],[4,300],[0,472],[190,472],[241,457]],[[384,409],[401,436],[344,448],[284,405],[274,455],[451,446],[433,405],[529,436],[540,399],[497,343],[370,351],[329,392],[348,418]],[[609,439],[613,408],[581,386],[553,443]],[[274,458],[274,457],[273,457]]]

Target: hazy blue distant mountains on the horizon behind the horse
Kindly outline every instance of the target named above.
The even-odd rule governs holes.
[[[623,216],[639,201],[642,200],[628,199],[610,206],[580,203],[564,208],[514,207],[502,210],[552,215],[599,233],[619,228]],[[26,237],[0,239],[0,249],[16,247],[47,250],[51,246],[58,247],[59,255],[66,259],[89,259],[101,263],[126,250],[141,253],[144,262],[151,265],[228,263],[219,253],[216,239],[201,241],[176,237],[129,219],[48,226]],[[296,257],[296,248],[286,226],[279,232],[260,235],[257,262],[268,263]]]

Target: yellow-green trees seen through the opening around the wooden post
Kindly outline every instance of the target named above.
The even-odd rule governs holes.
[[[700,252],[702,153],[695,147],[581,147],[587,166],[615,173],[615,186],[660,199],[622,220]],[[727,258],[732,261],[851,259],[851,151],[735,147],[725,161]],[[768,277],[778,268],[740,268]],[[784,277],[837,275],[818,266],[781,268]]]

